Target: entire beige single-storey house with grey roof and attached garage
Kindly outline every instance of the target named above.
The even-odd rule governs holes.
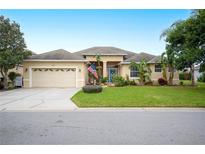
[[[101,55],[102,76],[112,82],[114,74],[124,78],[138,79],[137,70],[130,69],[131,61],[145,59],[151,70],[151,80],[157,83],[162,77],[160,56],[134,53],[115,47],[93,47],[70,53],[63,49],[32,55],[24,60],[24,86],[28,87],[82,87],[88,83],[88,65],[96,63],[96,54]],[[169,72],[168,72],[169,75]],[[178,83],[178,72],[174,83]]]

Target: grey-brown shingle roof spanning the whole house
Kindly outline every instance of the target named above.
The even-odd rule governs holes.
[[[123,50],[116,47],[92,47],[78,52],[70,53],[64,49],[58,49],[42,54],[33,54],[27,60],[85,60],[84,55],[122,55],[125,63],[131,61],[140,62],[145,59],[149,63],[156,63],[160,60],[160,56],[154,56],[141,52],[139,54]]]

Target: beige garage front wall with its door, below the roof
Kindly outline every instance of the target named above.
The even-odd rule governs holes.
[[[25,88],[74,88],[85,85],[85,62],[25,62]]]

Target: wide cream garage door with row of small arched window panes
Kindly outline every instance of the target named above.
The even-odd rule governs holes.
[[[33,68],[32,87],[76,87],[76,69]]]

